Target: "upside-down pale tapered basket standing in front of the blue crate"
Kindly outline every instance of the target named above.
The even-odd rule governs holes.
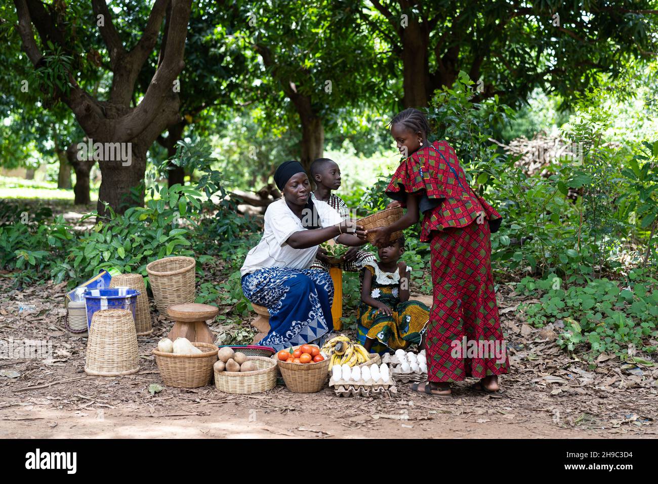
[[[130,310],[101,309],[93,313],[84,371],[97,377],[139,371],[137,333]]]

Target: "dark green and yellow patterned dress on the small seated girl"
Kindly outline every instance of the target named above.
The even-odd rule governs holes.
[[[411,271],[411,267],[407,267]],[[388,349],[407,349],[410,344],[420,344],[420,338],[425,331],[425,325],[430,319],[430,308],[420,301],[400,302],[399,271],[388,273],[382,271],[376,262],[368,262],[364,268],[372,274],[370,297],[392,309],[393,315],[377,312],[376,308],[365,302],[359,304],[357,310],[357,334],[359,343],[365,344],[366,337],[376,339],[372,345],[373,352],[384,352]]]

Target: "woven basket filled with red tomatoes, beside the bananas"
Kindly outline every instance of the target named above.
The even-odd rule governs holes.
[[[329,379],[330,360],[320,354],[315,344],[302,344],[276,354],[276,360],[286,387],[295,393],[315,393]]]

